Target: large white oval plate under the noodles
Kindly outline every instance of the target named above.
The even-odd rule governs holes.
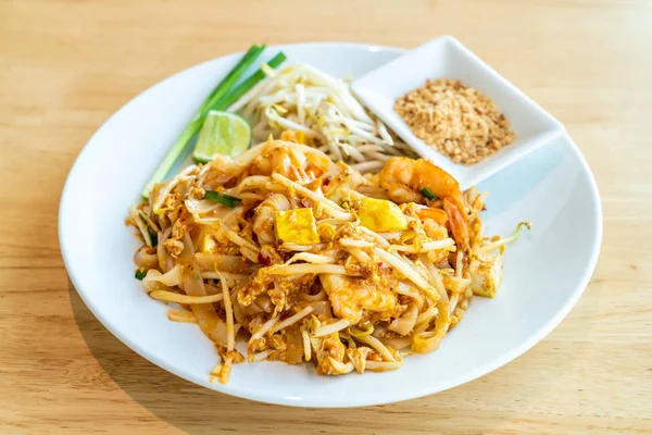
[[[337,76],[360,76],[403,50],[351,44],[302,44],[290,59]],[[166,319],[134,279],[138,244],[124,225],[128,206],[214,84],[237,55],[178,73],[118,110],[93,135],[66,182],[59,238],[73,284],[117,338],[163,369],[234,396],[304,407],[353,407],[419,397],[454,387],[510,362],[543,338],[581,295],[602,236],[598,189],[567,136],[489,181],[485,221],[507,235],[521,221],[532,233],[507,249],[504,283],[494,299],[473,300],[465,319],[427,356],[386,373],[317,376],[313,368],[278,362],[240,364],[226,385],[209,383],[217,361],[211,341],[192,324]]]

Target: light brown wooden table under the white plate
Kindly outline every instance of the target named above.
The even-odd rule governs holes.
[[[594,276],[526,355],[397,405],[260,405],[150,364],[71,288],[57,237],[61,189],[90,135],[134,96],[251,42],[414,47],[442,34],[557,116],[600,186]],[[650,1],[2,0],[0,84],[0,433],[652,432]]]

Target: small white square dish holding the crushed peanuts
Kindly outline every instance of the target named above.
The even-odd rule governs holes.
[[[514,142],[476,164],[463,165],[416,137],[393,110],[394,101],[436,78],[462,80],[491,98],[516,133]],[[386,63],[353,82],[351,89],[414,151],[454,176],[462,189],[477,185],[564,132],[557,120],[452,36],[432,39]]]

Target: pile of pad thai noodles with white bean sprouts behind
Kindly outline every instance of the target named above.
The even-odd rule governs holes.
[[[347,92],[309,69],[267,73],[225,112],[252,120],[262,144],[131,206],[136,277],[214,344],[214,380],[246,360],[396,370],[437,350],[474,295],[496,295],[518,231],[486,236],[486,194],[406,157]]]

